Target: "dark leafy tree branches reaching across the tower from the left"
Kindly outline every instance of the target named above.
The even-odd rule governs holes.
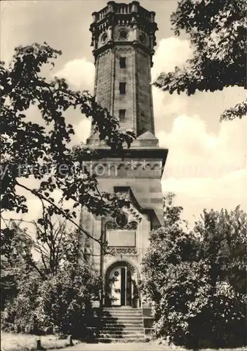
[[[119,131],[118,121],[88,92],[70,90],[65,79],[48,81],[42,76],[44,65],[53,67],[60,54],[46,43],[33,44],[15,48],[8,67],[1,62],[1,213],[27,213],[27,198],[18,194],[19,188],[39,199],[50,216],[64,216],[91,237],[74,221],[74,210],[55,203],[54,190],[60,190],[63,201],[74,201],[74,208],[84,206],[96,216],[114,216],[119,208],[128,206],[128,201],[107,192],[100,194],[95,176],[82,166],[94,150],[85,145],[69,147],[74,129],[67,123],[65,112],[74,108],[91,117],[94,132],[113,149],[121,149],[124,143],[129,146],[134,135]],[[46,126],[27,119],[26,112],[32,105],[38,108]],[[39,187],[24,182],[31,175],[40,180]]]

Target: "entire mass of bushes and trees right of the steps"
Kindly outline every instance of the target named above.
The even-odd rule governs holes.
[[[150,234],[142,263],[155,335],[186,347],[244,345],[247,214],[203,211],[189,234],[178,223]]]

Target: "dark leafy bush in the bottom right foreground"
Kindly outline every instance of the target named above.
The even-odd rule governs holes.
[[[181,263],[167,270],[154,305],[156,337],[186,347],[236,347],[245,342],[246,300],[226,282],[211,286],[210,266]]]

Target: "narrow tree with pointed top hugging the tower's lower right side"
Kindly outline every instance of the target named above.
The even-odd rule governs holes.
[[[176,265],[192,255],[193,238],[182,229],[182,206],[174,206],[175,194],[163,198],[163,226],[149,234],[149,249],[142,261],[142,291],[156,307],[161,299],[161,286],[169,265]],[[157,312],[158,310],[156,310]],[[156,318],[159,319],[159,317]]]

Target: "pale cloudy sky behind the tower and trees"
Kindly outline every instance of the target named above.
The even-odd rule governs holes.
[[[126,1],[128,2],[128,1]],[[65,77],[72,88],[93,90],[94,60],[91,53],[91,13],[107,1],[39,0],[1,1],[1,60],[8,62],[16,46],[46,41],[62,51],[53,73]],[[152,79],[172,71],[192,57],[185,34],[175,37],[170,16],[175,0],[140,0],[156,12],[156,52]],[[184,207],[184,218],[193,223],[203,208],[237,205],[247,211],[247,118],[220,123],[220,114],[244,100],[243,88],[225,88],[215,93],[169,95],[153,87],[154,124],[159,145],[168,148],[163,173],[163,193],[175,192],[175,204]],[[29,114],[39,119],[36,110]],[[74,125],[74,143],[85,141],[90,122],[74,112],[67,116]],[[29,197],[29,218],[40,211]]]

